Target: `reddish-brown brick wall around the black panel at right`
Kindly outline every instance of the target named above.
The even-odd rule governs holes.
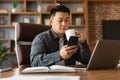
[[[98,39],[102,39],[102,20],[120,20],[120,3],[89,3],[89,38],[94,47]]]

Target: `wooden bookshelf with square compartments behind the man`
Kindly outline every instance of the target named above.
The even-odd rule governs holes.
[[[12,2],[16,1],[18,6],[16,12],[12,12]],[[70,28],[75,28],[82,31],[88,38],[88,1],[87,0],[43,0],[41,4],[41,11],[37,11],[37,0],[0,0],[0,10],[2,8],[7,9],[7,12],[1,12],[0,16],[5,18],[5,23],[0,24],[0,41],[5,42],[9,51],[7,54],[15,54],[15,24],[17,22],[28,22],[35,24],[45,24],[50,18],[50,8],[57,4],[64,4],[70,8]]]

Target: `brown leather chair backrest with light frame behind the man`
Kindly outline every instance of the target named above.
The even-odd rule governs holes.
[[[15,26],[15,51],[19,68],[30,66],[30,50],[34,37],[50,28],[51,26],[31,23],[18,23]]]

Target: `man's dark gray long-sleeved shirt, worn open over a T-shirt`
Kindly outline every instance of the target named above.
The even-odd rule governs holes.
[[[59,37],[52,30],[38,34],[33,42],[30,53],[31,66],[50,66],[61,61],[59,50]],[[64,45],[67,43],[64,37]],[[91,56],[86,41],[78,43],[77,53],[65,60],[65,65],[75,65],[76,61],[87,64]]]

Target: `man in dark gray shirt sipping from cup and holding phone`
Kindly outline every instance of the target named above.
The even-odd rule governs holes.
[[[38,34],[33,40],[31,66],[75,65],[76,61],[87,64],[91,53],[82,33],[75,31],[79,39],[78,45],[66,45],[65,31],[70,25],[69,8],[57,5],[51,9],[50,16],[52,28]]]

